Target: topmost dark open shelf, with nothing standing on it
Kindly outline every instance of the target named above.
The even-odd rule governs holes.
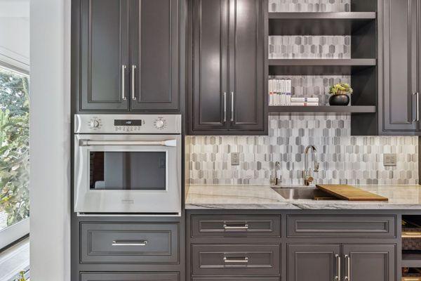
[[[351,35],[375,25],[375,12],[269,13],[270,35]]]

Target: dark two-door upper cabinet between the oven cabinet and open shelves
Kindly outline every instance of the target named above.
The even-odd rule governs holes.
[[[192,0],[192,134],[267,133],[267,1]]]

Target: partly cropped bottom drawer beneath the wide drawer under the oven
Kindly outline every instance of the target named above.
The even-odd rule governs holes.
[[[179,281],[178,273],[81,272],[80,281]]]

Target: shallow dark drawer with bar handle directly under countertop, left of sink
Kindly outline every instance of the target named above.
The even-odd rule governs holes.
[[[280,237],[279,216],[195,216],[192,237]]]

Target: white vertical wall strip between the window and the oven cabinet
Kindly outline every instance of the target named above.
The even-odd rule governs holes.
[[[31,280],[70,280],[70,1],[31,0]]]

